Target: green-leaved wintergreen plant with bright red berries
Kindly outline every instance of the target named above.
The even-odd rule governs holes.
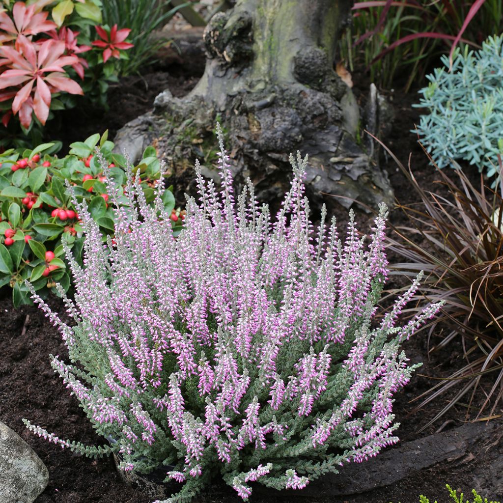
[[[64,291],[70,288],[61,240],[74,247],[80,260],[82,233],[80,217],[65,188],[73,187],[78,201],[86,200],[89,212],[104,236],[114,232],[114,213],[108,205],[109,194],[101,163],[94,155],[100,145],[111,181],[124,190],[126,159],[112,153],[114,144],[94,134],[70,145],[67,155],[52,155],[60,145],[45,143],[34,149],[11,148],[0,154],[0,287],[12,288],[14,305],[31,303],[24,282],[29,279],[39,295],[57,294],[55,282]],[[160,179],[160,163],[155,149],[149,147],[134,168],[147,203],[152,203],[155,180]],[[175,210],[171,190],[163,193],[164,211],[170,213],[175,235],[182,227],[182,215]],[[124,196],[119,204],[127,203]]]

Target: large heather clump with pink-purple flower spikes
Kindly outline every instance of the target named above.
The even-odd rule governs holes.
[[[188,199],[178,238],[162,186],[151,208],[129,180],[115,244],[77,205],[85,258],[82,268],[70,259],[75,302],[65,300],[75,326],[37,299],[72,362],[52,357],[54,370],[114,442],[84,446],[25,424],[89,456],[117,452],[122,470],[165,465],[166,481],[183,482],[170,502],[189,500],[218,471],[243,499],[249,482],[301,489],[397,442],[392,397],[415,368],[400,344],[439,309],[395,326],[416,280],[375,317],[387,275],[384,205],[368,245],[353,214],[344,242],[324,210],[314,232],[298,154],[273,223],[251,182],[235,202],[219,135],[221,192],[196,163],[199,202]]]

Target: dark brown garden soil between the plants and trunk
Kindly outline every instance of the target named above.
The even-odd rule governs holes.
[[[184,64],[181,64],[184,63]],[[162,64],[153,66],[142,74],[142,77],[127,77],[113,88],[110,93],[110,111],[106,114],[93,111],[75,121],[70,133],[65,138],[67,143],[86,138],[90,134],[105,129],[110,130],[111,137],[127,121],[144,113],[152,106],[154,97],[166,87],[175,96],[182,96],[195,85],[202,72],[201,61],[198,65],[187,64],[180,58],[170,55]],[[354,81],[359,81],[357,76]],[[364,82],[364,78],[361,79]],[[363,89],[363,87],[362,87]],[[365,86],[365,89],[368,89]],[[357,95],[363,93],[357,90]],[[392,125],[389,137],[386,139],[389,147],[395,151],[399,159],[406,163],[412,152],[411,165],[416,178],[429,188],[436,176],[428,166],[424,154],[408,131],[417,120],[418,111],[411,108],[415,95],[403,96],[399,92],[388,93],[388,98],[396,110],[396,119]],[[73,112],[72,112],[73,114]],[[69,128],[70,114],[65,120]],[[411,203],[413,194],[407,186],[405,178],[398,172],[392,160],[383,158],[383,166],[388,171],[395,194],[400,202]],[[341,210],[338,215],[343,228],[347,212]],[[400,221],[400,213],[390,212],[394,223]],[[368,230],[369,217],[358,212],[361,230]],[[63,313],[59,299],[49,300],[51,307]],[[54,444],[35,437],[28,432],[22,423],[22,418],[28,418],[33,424],[40,425],[60,438],[78,440],[84,444],[103,443],[94,432],[90,422],[83,414],[75,397],[70,396],[61,379],[54,374],[49,365],[49,354],[66,357],[67,352],[61,342],[59,333],[48,322],[44,314],[33,306],[23,306],[14,309],[10,300],[10,292],[0,292],[0,421],[16,431],[40,456],[49,470],[50,481],[44,492],[36,499],[36,503],[147,503],[149,498],[121,481],[116,473],[111,458],[100,460],[87,459],[61,450]],[[462,349],[456,343],[451,344],[442,354],[433,354],[428,358],[428,343],[426,334],[420,333],[404,345],[411,363],[424,362],[424,366],[416,373],[404,392],[397,395],[394,412],[402,426],[397,434],[401,444],[411,440],[420,440],[443,429],[453,430],[463,424],[465,409],[462,406],[453,407],[439,422],[429,427],[421,434],[417,430],[426,425],[432,417],[445,406],[449,396],[442,396],[426,409],[412,412],[414,404],[411,399],[426,391],[432,381],[423,376],[444,376],[463,364]],[[451,395],[452,396],[452,395]],[[500,413],[501,411],[497,411]],[[497,420],[499,421],[499,420]],[[400,445],[400,444],[399,444]],[[398,447],[398,446],[397,446]],[[472,487],[478,487],[489,498],[503,498],[501,479],[498,484],[482,480],[482,474],[489,473],[498,451],[501,452],[503,442],[497,431],[485,439],[484,444],[472,445],[463,456],[434,464],[430,468],[412,471],[406,478],[386,487],[375,488],[361,494],[345,496],[328,496],[321,490],[319,495],[305,497],[299,491],[257,491],[250,498],[255,503],[270,503],[275,500],[300,500],[313,503],[417,503],[418,495],[423,493],[438,499],[439,503],[447,502],[448,495],[445,484],[469,492]],[[442,453],[439,448],[439,456]],[[421,451],[410,452],[410,456],[422,456]],[[376,460],[377,461],[377,460]],[[362,471],[365,464],[360,465]],[[393,470],[400,471],[397,464]],[[385,477],[383,473],[383,479]],[[482,477],[482,478],[481,478]],[[485,479],[484,479],[485,480]],[[315,487],[315,483],[312,484]],[[483,495],[484,495],[483,494]],[[240,499],[235,492],[216,483],[211,486],[201,503],[237,503]]]

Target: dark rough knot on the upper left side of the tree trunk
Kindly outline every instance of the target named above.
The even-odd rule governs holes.
[[[215,14],[203,34],[208,57],[223,66],[246,65],[253,57],[252,21],[246,12],[233,17]]]

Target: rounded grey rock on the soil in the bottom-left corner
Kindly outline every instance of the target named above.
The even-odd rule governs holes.
[[[49,482],[33,449],[0,422],[0,503],[32,503]]]

